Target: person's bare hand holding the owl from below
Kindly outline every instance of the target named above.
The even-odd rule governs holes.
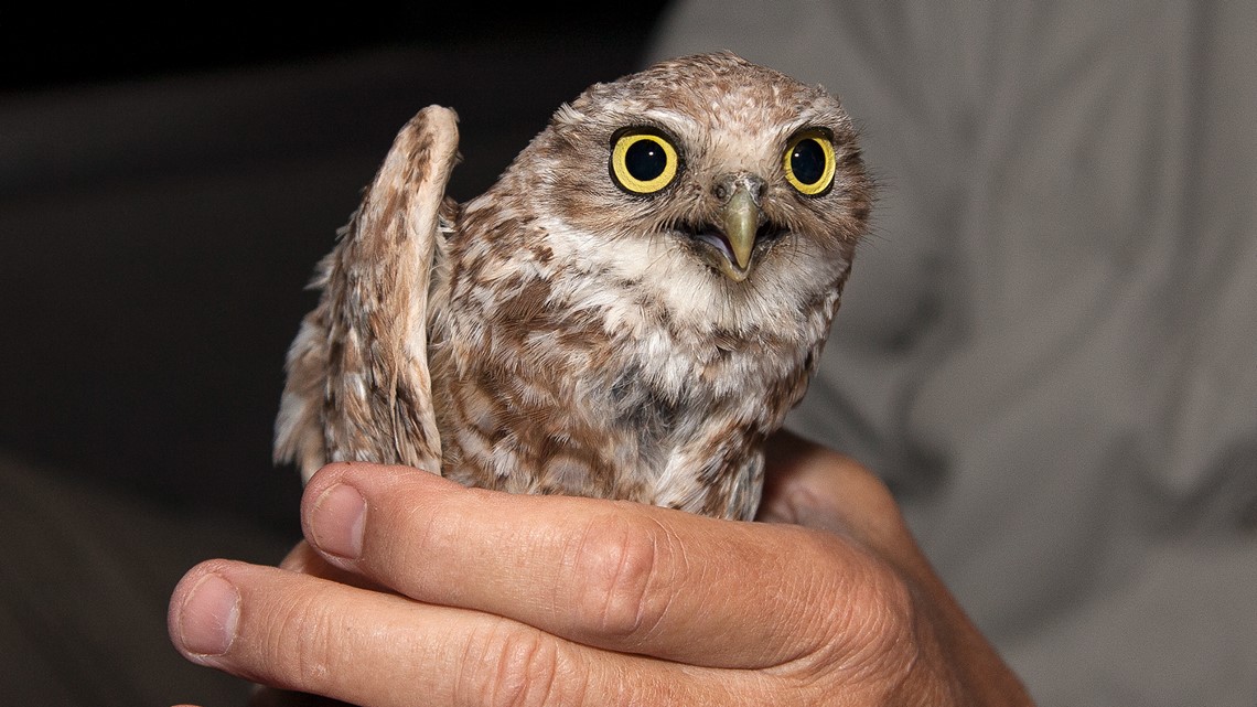
[[[861,465],[779,434],[759,520],[331,464],[305,542],[190,570],[170,634],[259,703],[1031,704]]]

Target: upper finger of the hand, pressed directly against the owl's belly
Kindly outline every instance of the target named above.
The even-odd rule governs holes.
[[[321,470],[302,523],[329,561],[410,598],[695,665],[833,649],[870,587],[886,600],[874,605],[903,606],[877,561],[832,533],[469,489],[401,467]]]

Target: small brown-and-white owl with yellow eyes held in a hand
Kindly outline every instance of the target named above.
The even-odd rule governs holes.
[[[277,462],[749,520],[872,201],[825,89],[730,53],[558,108],[481,196],[455,113],[398,132],[319,263]]]

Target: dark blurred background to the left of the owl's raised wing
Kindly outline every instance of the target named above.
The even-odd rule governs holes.
[[[284,352],[393,133],[454,107],[465,200],[662,5],[0,10],[0,453],[295,532]]]

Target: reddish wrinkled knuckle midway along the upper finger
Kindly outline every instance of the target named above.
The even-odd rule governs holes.
[[[637,518],[593,522],[572,562],[577,615],[600,635],[646,635],[667,609],[667,533]]]

